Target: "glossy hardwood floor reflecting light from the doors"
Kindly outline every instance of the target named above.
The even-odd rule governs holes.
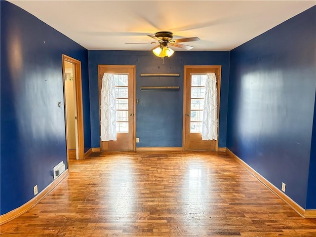
[[[94,157],[93,157],[94,156]],[[316,237],[226,153],[92,153],[1,237]]]

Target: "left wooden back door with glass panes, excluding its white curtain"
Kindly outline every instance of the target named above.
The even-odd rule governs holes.
[[[101,151],[135,151],[135,66],[99,65],[98,72],[99,108],[104,73],[114,74],[117,105],[117,140],[100,141]]]

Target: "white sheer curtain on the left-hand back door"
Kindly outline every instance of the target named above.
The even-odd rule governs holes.
[[[112,73],[104,73],[101,87],[101,141],[117,140],[117,108]]]

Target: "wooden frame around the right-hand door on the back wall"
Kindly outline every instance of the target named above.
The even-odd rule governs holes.
[[[186,98],[186,92],[187,92],[187,70],[188,69],[217,69],[218,70],[218,88],[217,88],[217,140],[215,141],[215,151],[218,151],[218,140],[219,140],[219,111],[220,111],[220,96],[221,96],[221,72],[222,72],[222,66],[221,65],[185,65],[184,66],[184,77],[183,77],[183,128],[182,128],[182,147],[183,151],[185,151],[185,140],[186,140],[186,133],[185,133],[185,128],[186,128],[186,103],[187,103],[187,98]]]

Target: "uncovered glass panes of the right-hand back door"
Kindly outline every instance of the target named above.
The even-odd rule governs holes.
[[[190,132],[202,132],[206,74],[191,75]]]

